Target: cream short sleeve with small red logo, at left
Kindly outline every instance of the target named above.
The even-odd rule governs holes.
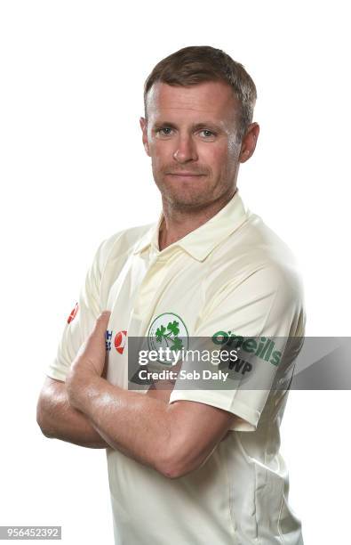
[[[79,348],[92,332],[97,317],[104,310],[100,307],[100,284],[105,246],[106,240],[103,240],[86,273],[76,307],[68,316],[63,329],[56,357],[46,370],[48,377],[66,380],[69,367]]]

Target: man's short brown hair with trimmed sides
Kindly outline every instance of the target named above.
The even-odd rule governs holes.
[[[232,87],[240,103],[237,137],[241,140],[252,121],[257,99],[256,85],[242,64],[210,45],[183,47],[156,64],[144,85],[145,117],[148,92],[157,82],[187,86],[206,81],[223,81]]]

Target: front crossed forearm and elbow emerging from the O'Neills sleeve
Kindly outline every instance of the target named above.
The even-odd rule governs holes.
[[[167,404],[83,372],[70,378],[68,397],[112,448],[171,478],[199,468],[235,419],[204,403]]]

